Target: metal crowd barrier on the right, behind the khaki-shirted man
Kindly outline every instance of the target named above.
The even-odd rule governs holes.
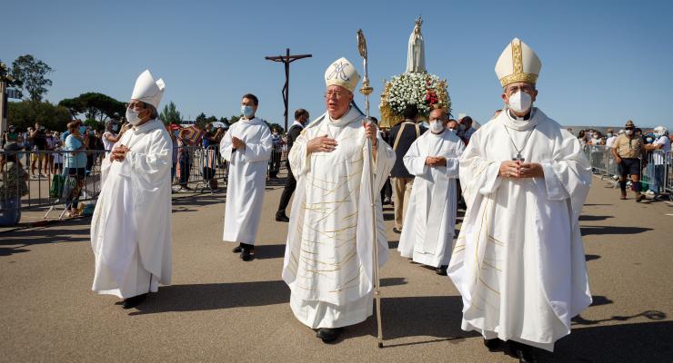
[[[618,187],[619,165],[612,157],[611,148],[604,145],[585,145],[591,168],[601,179],[608,179],[614,187]],[[657,150],[646,152],[640,161],[640,182],[643,191],[668,193],[673,200],[673,153]]]

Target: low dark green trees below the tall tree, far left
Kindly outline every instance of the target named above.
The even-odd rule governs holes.
[[[30,101],[7,103],[7,122],[21,130],[26,130],[28,126],[39,122],[46,129],[63,132],[71,120],[72,115],[65,107],[52,103]]]

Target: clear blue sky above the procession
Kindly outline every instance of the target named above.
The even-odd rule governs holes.
[[[454,114],[485,122],[501,106],[494,73],[515,36],[543,66],[537,106],[568,125],[673,129],[673,2],[668,1],[30,1],[5,0],[0,59],[34,54],[55,70],[46,99],[100,92],[126,101],[138,74],[164,78],[163,104],[185,118],[238,113],[256,93],[258,115],[283,122],[281,64],[266,55],[313,54],[290,69],[290,118],[325,111],[323,73],[346,56],[361,70],[369,48],[377,115],[383,80],[404,72],[414,19],[423,15],[427,70],[447,78]],[[362,96],[357,102],[363,104]]]

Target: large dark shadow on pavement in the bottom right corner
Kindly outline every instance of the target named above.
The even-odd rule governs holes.
[[[670,362],[673,321],[573,329],[558,340],[550,362]],[[542,355],[541,355],[542,356]]]

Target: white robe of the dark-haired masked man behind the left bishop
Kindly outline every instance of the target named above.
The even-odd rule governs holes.
[[[235,150],[232,137],[246,142],[246,147]],[[222,138],[220,152],[229,162],[222,240],[255,244],[272,147],[271,132],[266,123],[258,118],[239,120],[229,127]]]

